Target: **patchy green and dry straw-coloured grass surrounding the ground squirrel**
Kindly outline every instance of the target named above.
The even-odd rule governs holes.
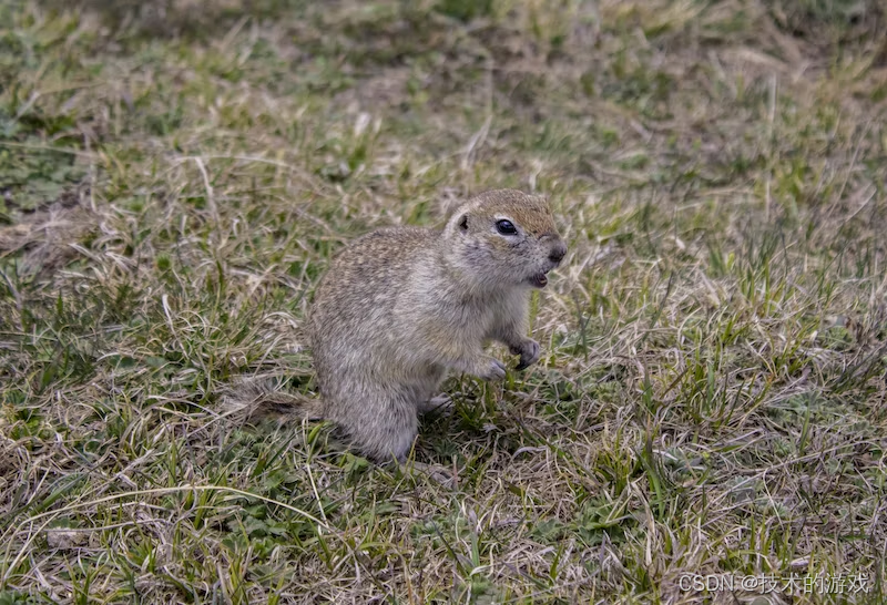
[[[885,117],[878,0],[0,3],[0,604],[884,603]],[[570,253],[453,485],[226,413],[497,187]]]

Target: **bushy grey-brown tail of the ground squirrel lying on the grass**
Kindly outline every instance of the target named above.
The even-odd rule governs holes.
[[[245,424],[264,419],[279,422],[320,420],[320,401],[281,390],[274,381],[244,380],[231,384],[222,396],[223,414]]]

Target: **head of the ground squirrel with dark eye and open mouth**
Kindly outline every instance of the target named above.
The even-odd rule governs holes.
[[[447,223],[448,248],[488,284],[544,288],[567,245],[544,198],[514,189],[482,193]]]

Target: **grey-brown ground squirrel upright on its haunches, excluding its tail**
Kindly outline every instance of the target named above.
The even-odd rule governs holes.
[[[469,199],[442,232],[360,237],[333,260],[308,312],[320,416],[365,455],[402,461],[448,370],[504,377],[486,341],[519,355],[517,369],[539,358],[530,290],[564,254],[547,202],[511,189]]]

